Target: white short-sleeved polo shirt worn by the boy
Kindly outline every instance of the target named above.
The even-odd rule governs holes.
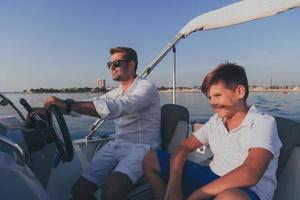
[[[194,133],[205,145],[210,145],[213,160],[211,170],[223,176],[243,164],[251,148],[264,148],[273,158],[259,182],[251,189],[261,200],[272,199],[276,189],[276,169],[282,143],[278,137],[275,119],[252,106],[237,128],[227,131],[217,114]]]

